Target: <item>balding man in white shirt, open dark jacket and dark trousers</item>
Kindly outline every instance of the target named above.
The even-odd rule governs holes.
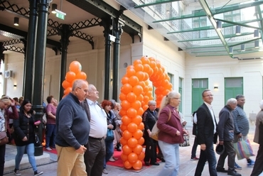
[[[106,155],[104,137],[107,134],[107,115],[97,99],[99,92],[93,84],[89,84],[87,97],[81,103],[90,121],[90,137],[85,145],[87,151],[84,155],[86,172],[89,176],[102,175]]]

